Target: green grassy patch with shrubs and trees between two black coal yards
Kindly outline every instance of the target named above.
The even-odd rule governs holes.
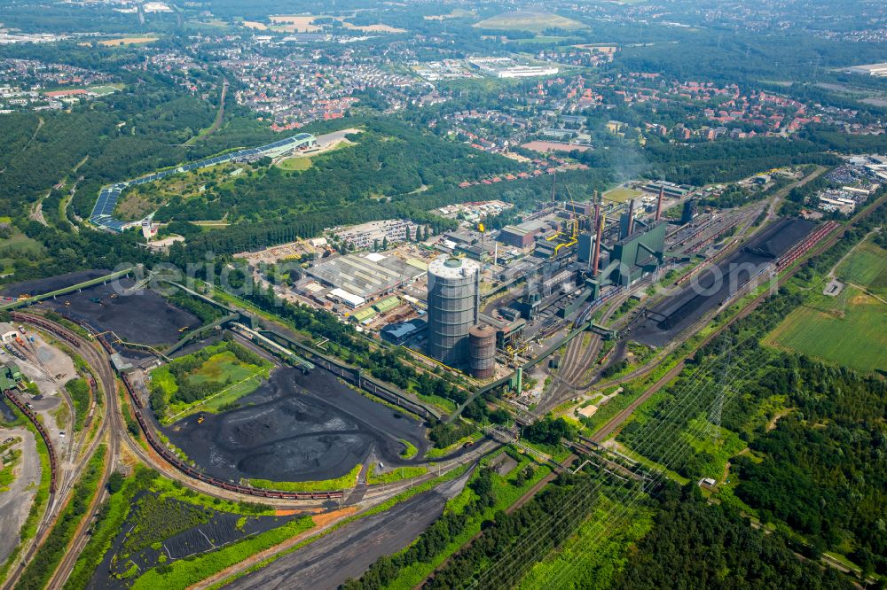
[[[161,423],[219,412],[255,391],[271,362],[233,342],[208,346],[151,372],[151,407]]]

